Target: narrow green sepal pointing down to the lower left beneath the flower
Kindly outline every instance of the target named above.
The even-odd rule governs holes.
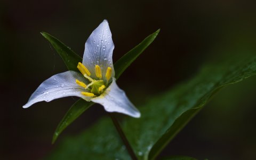
[[[75,121],[76,118],[78,118],[82,113],[84,113],[86,109],[91,107],[93,104],[93,102],[87,102],[83,99],[79,99],[78,101],[76,101],[74,105],[69,108],[66,115],[62,118],[59,125],[57,126],[57,129],[53,134],[52,143],[57,140],[60,133],[65,130],[70,123]]]

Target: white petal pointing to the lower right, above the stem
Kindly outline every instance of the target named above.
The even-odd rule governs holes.
[[[140,111],[133,106],[130,100],[126,97],[123,90],[116,85],[116,79],[113,77],[113,82],[99,97],[93,98],[91,101],[100,103],[106,111],[123,113],[132,117],[140,117]]]

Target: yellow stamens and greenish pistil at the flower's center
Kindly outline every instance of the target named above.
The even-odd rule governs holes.
[[[101,69],[99,65],[95,65],[95,76],[99,78],[98,80],[90,77],[91,76],[90,71],[81,62],[78,63],[77,68],[84,75],[84,77],[90,81],[89,84],[85,84],[84,82],[81,82],[78,79],[76,79],[76,84],[84,87],[84,89],[87,91],[87,92],[81,92],[81,94],[87,97],[95,97],[103,93],[103,91],[106,89],[106,85],[108,85],[109,79],[111,78],[111,72],[112,72],[111,67],[107,68],[106,75],[105,75],[107,79],[107,84],[105,84],[104,81],[102,80],[102,74],[101,74]]]

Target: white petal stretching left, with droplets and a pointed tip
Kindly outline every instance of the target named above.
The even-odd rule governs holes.
[[[88,100],[88,97],[81,94],[81,92],[85,90],[83,87],[76,84],[76,79],[85,82],[83,75],[76,71],[66,71],[46,79],[31,95],[23,108],[28,108],[36,102],[49,102],[54,99],[68,96],[77,96]]]

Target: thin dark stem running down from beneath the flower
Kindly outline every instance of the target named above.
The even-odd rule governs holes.
[[[109,115],[110,115],[110,118],[112,119],[112,122],[114,123],[114,125],[116,127],[116,130],[117,130],[118,134],[120,135],[121,139],[123,140],[124,145],[125,145],[128,153],[130,154],[131,158],[133,160],[138,160],[137,156],[134,154],[134,151],[133,151],[129,141],[125,137],[124,132],[123,132],[119,122],[117,121],[115,115],[113,113],[109,113]]]

